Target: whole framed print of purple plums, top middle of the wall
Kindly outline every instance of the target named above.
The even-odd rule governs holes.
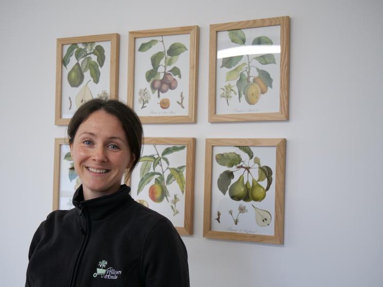
[[[129,32],[128,105],[143,123],[196,122],[198,47],[198,26]]]

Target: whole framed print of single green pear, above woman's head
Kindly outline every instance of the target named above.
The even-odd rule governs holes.
[[[91,98],[118,98],[118,61],[119,34],[57,39],[55,125]]]

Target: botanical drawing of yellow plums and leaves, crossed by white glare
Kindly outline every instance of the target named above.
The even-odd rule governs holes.
[[[239,46],[273,45],[272,39],[260,35],[247,39],[243,30],[228,31],[231,42]],[[220,87],[220,98],[230,105],[232,98],[240,102],[245,98],[248,105],[256,105],[260,96],[273,88],[273,78],[264,66],[276,64],[274,54],[238,55],[222,58],[219,68],[226,72],[227,84]]]

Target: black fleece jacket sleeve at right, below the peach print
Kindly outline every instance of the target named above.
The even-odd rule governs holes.
[[[154,225],[144,242],[142,274],[145,286],[190,286],[185,244],[167,218]]]

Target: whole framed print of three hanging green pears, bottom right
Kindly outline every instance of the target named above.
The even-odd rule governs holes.
[[[206,139],[204,237],[283,244],[285,160],[284,138]]]

